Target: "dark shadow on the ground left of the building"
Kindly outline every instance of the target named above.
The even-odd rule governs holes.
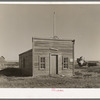
[[[22,70],[20,68],[5,68],[0,70],[0,75],[4,76],[15,76],[15,77],[24,77],[26,75],[22,74]]]

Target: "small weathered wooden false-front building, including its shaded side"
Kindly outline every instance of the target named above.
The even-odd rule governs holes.
[[[19,54],[23,74],[72,76],[74,42],[75,40],[32,38],[32,49]]]

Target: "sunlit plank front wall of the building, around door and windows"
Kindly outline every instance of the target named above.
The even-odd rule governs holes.
[[[57,51],[52,50],[57,49]],[[39,40],[33,39],[33,75],[49,75],[50,71],[50,55],[58,55],[58,74],[72,75],[73,62],[73,42],[57,41],[57,40]],[[39,57],[46,58],[46,68],[39,69]],[[68,57],[68,69],[63,69],[63,57]]]

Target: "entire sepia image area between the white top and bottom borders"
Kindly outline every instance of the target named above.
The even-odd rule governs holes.
[[[100,88],[100,4],[0,4],[0,88]]]

